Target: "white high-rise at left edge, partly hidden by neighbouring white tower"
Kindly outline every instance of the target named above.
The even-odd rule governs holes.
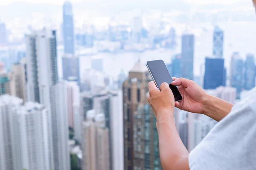
[[[22,99],[14,96],[0,96],[0,169],[14,170],[14,141],[12,137],[12,109],[20,107]]]

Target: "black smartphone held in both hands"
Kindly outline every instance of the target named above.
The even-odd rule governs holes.
[[[171,84],[171,82],[173,82],[173,79],[163,60],[148,61],[146,65],[152,79],[154,80],[159,90],[160,90],[161,84],[163,82],[166,82],[169,84],[169,87],[172,90],[175,101],[182,100],[182,96],[180,95],[180,92],[177,89],[177,87]]]

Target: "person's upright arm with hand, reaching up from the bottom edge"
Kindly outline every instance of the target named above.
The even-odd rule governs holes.
[[[148,84],[148,102],[157,119],[160,160],[164,170],[189,170],[188,151],[177,133],[174,122],[174,96],[167,83],[158,90],[154,82]]]

